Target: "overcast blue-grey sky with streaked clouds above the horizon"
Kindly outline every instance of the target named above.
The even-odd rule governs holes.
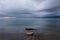
[[[0,0],[0,14],[15,17],[60,15],[60,0]]]

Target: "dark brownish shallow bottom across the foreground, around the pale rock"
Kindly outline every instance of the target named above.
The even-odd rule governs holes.
[[[56,33],[35,32],[33,36],[27,36],[25,32],[1,32],[0,40],[60,40],[60,35]]]

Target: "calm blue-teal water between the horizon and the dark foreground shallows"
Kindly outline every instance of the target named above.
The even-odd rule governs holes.
[[[0,32],[22,32],[26,27],[33,27],[45,32],[60,33],[60,19],[14,18],[0,19]]]

